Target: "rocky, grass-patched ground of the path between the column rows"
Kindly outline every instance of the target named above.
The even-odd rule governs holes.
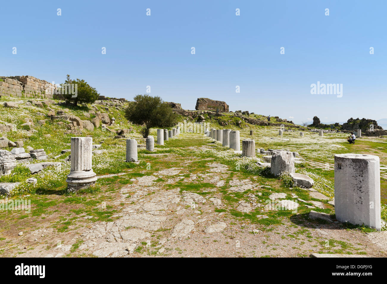
[[[227,156],[214,154],[224,149],[201,134],[181,134],[176,140],[170,143],[177,151],[140,154],[147,163],[142,167],[99,175],[100,191],[80,197],[48,194],[43,198],[53,202],[50,212],[34,219],[18,215],[12,226],[2,219],[0,255],[387,256],[386,231],[335,221],[331,199],[324,194],[240,170]],[[330,214],[329,222],[309,218],[311,210]]]

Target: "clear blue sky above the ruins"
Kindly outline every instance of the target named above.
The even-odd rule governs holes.
[[[70,74],[129,100],[150,85],[185,109],[208,97],[295,122],[381,119],[386,11],[387,1],[354,0],[3,1],[0,75]],[[343,84],[342,97],[310,94],[317,81]]]

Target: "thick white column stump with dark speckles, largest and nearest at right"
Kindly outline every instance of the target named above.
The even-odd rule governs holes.
[[[380,231],[379,157],[335,155],[335,213],[340,222],[365,224]]]

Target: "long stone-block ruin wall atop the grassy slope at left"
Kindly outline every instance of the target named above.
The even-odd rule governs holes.
[[[0,96],[55,99],[55,86],[32,76],[0,77]]]

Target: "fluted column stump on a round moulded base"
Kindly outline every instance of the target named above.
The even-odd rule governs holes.
[[[96,173],[91,168],[92,144],[91,137],[71,138],[71,168],[66,179],[67,189],[79,190],[96,183]]]

